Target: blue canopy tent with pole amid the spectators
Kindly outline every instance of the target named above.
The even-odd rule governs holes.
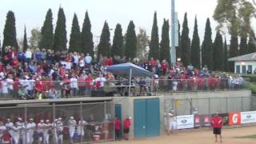
[[[106,70],[113,74],[120,75],[122,77],[129,78],[129,95],[130,95],[130,83],[132,77],[153,77],[153,73],[143,69],[140,66],[134,65],[130,62],[122,63],[113,66],[106,66]]]

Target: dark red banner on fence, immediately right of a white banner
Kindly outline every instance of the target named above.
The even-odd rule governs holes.
[[[194,115],[194,127],[210,126],[210,115]]]

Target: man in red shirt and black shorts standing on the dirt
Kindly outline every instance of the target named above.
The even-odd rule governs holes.
[[[218,116],[218,113],[215,112],[214,117],[211,118],[211,126],[214,128],[214,135],[215,135],[215,142],[218,142],[218,135],[220,142],[222,142],[222,125],[223,119],[222,117]]]

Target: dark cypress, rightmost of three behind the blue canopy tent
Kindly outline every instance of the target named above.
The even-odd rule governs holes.
[[[136,56],[136,48],[137,46],[137,38],[135,33],[134,22],[130,21],[127,32],[126,32],[126,42],[125,42],[125,56],[126,58],[135,58]]]

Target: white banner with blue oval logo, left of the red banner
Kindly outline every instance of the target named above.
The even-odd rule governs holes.
[[[177,129],[194,128],[194,115],[177,116]]]

